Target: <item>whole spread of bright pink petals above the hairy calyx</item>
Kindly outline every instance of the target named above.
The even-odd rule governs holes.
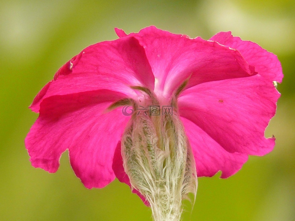
[[[248,155],[273,149],[275,138],[264,131],[280,96],[273,85],[283,78],[277,56],[230,32],[209,41],[155,27],[116,33],[119,39],[69,60],[33,100],[29,108],[39,117],[25,144],[34,167],[56,172],[68,149],[85,187],[102,188],[115,177],[130,185],[120,141],[132,116],[113,104],[129,99],[150,105],[138,88],[151,91],[161,106],[175,98],[198,176],[221,170],[227,178]]]

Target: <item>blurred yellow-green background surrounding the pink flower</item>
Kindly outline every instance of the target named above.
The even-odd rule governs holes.
[[[156,25],[210,38],[231,30],[277,54],[284,71],[277,115],[265,134],[273,152],[250,157],[234,176],[199,178],[183,220],[295,220],[295,2],[282,1],[1,1],[0,220],[151,220],[151,211],[115,180],[86,189],[67,153],[49,174],[29,162],[24,138],[37,114],[27,107],[62,64],[88,45]]]

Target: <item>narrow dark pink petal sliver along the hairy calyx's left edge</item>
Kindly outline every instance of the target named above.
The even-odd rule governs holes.
[[[121,142],[119,142],[116,147],[112,168],[118,180],[122,183],[127,184],[131,188],[129,177],[125,173],[125,170],[123,167],[123,159],[121,155]],[[140,199],[144,202],[145,205],[150,206],[148,200],[146,200],[144,196],[141,195],[141,193],[137,189],[133,189],[132,192],[136,193],[140,197]]]

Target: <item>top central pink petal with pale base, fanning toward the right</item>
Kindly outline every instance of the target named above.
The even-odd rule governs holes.
[[[117,30],[119,36],[124,35]],[[144,47],[155,75],[155,92],[169,98],[184,80],[187,87],[208,81],[251,76],[242,55],[228,46],[200,37],[190,39],[153,26],[131,33]]]

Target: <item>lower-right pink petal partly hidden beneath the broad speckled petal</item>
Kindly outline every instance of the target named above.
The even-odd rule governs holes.
[[[214,176],[222,171],[221,178],[227,178],[241,169],[248,160],[243,153],[229,153],[205,131],[190,120],[181,118],[195,157],[197,176]]]

